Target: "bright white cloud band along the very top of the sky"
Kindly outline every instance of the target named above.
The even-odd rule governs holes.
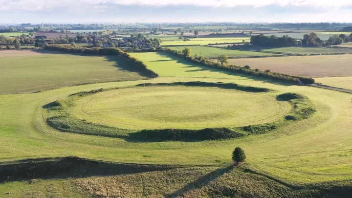
[[[0,0],[0,10],[40,10],[54,7],[72,7],[97,4],[123,5],[198,5],[198,6],[266,6],[270,4],[342,7],[352,0]]]

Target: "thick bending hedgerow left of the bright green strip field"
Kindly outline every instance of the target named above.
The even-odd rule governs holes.
[[[117,55],[131,63],[131,66],[136,67],[137,69],[141,69],[145,73],[149,74],[151,77],[158,77],[159,75],[155,73],[153,70],[147,68],[142,61],[132,57],[130,54],[122,51],[119,48],[115,47],[75,47],[71,45],[59,45],[59,44],[51,44],[44,47],[44,49],[53,50],[53,51],[61,51],[68,53],[82,53],[82,54],[93,54],[93,55]]]

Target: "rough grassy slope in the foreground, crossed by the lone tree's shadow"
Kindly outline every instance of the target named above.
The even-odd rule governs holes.
[[[0,184],[3,198],[45,197],[232,197],[320,198],[315,190],[293,190],[231,167],[189,167],[115,176],[48,179]]]

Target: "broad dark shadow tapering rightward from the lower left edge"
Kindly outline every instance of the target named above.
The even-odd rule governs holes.
[[[140,165],[89,160],[79,157],[27,159],[0,163],[0,183],[30,179],[84,178],[164,171],[187,166]]]

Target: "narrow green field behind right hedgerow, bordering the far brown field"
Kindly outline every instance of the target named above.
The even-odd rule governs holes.
[[[256,52],[256,51],[245,51],[245,50],[235,50],[235,49],[220,49],[216,47],[206,47],[206,46],[187,46],[191,48],[192,55],[197,54],[198,56],[203,56],[205,58],[217,58],[220,55],[227,55],[228,57],[248,57],[248,56],[270,56],[278,54]],[[182,51],[184,46],[168,47],[174,50]],[[279,54],[280,56],[280,54]]]

